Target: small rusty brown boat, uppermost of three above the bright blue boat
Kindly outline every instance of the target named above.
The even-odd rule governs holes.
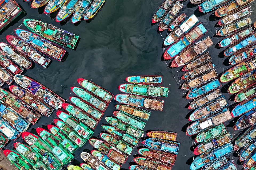
[[[192,60],[184,65],[181,71],[190,71],[191,69],[195,69],[209,61],[211,61],[211,56],[209,55],[209,52],[206,52],[199,56],[197,59]]]

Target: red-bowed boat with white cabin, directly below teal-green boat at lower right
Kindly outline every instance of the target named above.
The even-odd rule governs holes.
[[[199,144],[195,149],[194,149],[194,154],[195,155],[200,155],[205,152],[212,151],[226,143],[231,143],[232,136],[230,132],[227,132],[226,134],[222,136],[218,136],[217,138],[213,140],[208,140],[205,143]]]

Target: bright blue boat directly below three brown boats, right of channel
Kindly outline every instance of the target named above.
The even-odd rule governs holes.
[[[194,98],[197,98],[197,97],[200,97],[208,92],[211,92],[217,88],[219,88],[221,86],[220,82],[218,79],[215,79],[207,84],[204,84],[204,85],[200,85],[198,86],[197,88],[194,88],[192,90],[190,90],[188,93],[187,93],[187,96],[186,98],[187,99],[194,99]]]

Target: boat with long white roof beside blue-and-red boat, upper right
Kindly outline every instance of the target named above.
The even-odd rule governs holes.
[[[198,23],[198,18],[193,14],[188,19],[186,19],[182,24],[179,25],[178,28],[173,30],[165,39],[163,44],[165,46],[175,43],[178,39],[180,39],[183,35],[185,35],[191,28],[197,27],[200,23]],[[198,23],[198,24],[197,24]],[[197,24],[197,25],[196,25]]]

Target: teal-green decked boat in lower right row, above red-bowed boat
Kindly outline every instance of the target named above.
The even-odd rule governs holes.
[[[227,133],[227,129],[225,125],[221,123],[220,125],[207,128],[200,132],[195,138],[195,142],[207,142],[209,140],[213,140],[219,135],[224,135],[225,133]]]

